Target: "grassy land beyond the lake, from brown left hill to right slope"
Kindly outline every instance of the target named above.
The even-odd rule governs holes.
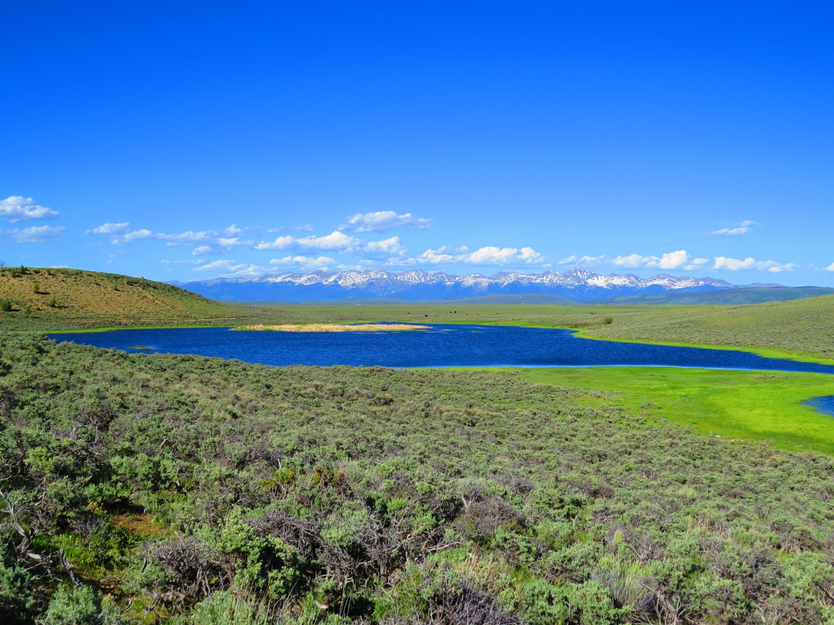
[[[40,293],[34,293],[38,283]],[[113,288],[115,287],[115,288]],[[55,298],[57,308],[50,307]],[[497,323],[575,328],[595,338],[770,349],[834,358],[834,296],[744,306],[510,303],[281,304],[213,302],[163,283],[70,269],[0,271],[8,330],[252,323]],[[28,307],[28,308],[27,308]],[[604,323],[605,317],[613,323]]]

